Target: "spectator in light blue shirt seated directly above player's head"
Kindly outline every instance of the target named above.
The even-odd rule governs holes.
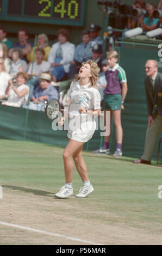
[[[80,66],[82,66],[82,63],[92,58],[92,49],[91,49],[90,40],[91,40],[90,32],[83,31],[82,42],[76,47],[76,51],[74,53],[74,60],[72,60],[71,62],[68,78],[73,79],[74,75],[78,74]]]

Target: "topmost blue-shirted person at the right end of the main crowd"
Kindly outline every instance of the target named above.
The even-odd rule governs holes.
[[[90,37],[91,37],[91,47],[93,47],[96,43],[99,45],[102,45],[102,54],[104,53],[104,41],[99,36],[99,31],[101,30],[101,27],[91,23],[90,25]]]

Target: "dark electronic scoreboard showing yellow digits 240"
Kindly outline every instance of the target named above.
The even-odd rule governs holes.
[[[85,0],[0,0],[0,20],[84,26]]]

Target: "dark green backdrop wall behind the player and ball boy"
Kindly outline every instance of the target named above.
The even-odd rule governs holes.
[[[149,50],[135,46],[117,47],[120,56],[120,65],[126,71],[128,80],[128,94],[122,111],[123,126],[123,154],[140,157],[144,150],[147,129],[147,106],[145,97],[144,65],[147,59],[157,59],[158,48]],[[160,66],[160,65],[159,65]],[[159,67],[159,71],[162,72]],[[0,137],[23,139],[26,109],[0,105]],[[162,132],[161,135],[162,136]],[[46,118],[44,112],[29,111],[26,139],[30,141],[50,143],[65,147],[67,137],[65,131],[53,131],[52,122]],[[95,132],[89,144],[84,149],[95,150],[100,147],[99,131]],[[115,129],[112,124],[110,150],[116,147]],[[157,158],[158,144],[153,158]]]

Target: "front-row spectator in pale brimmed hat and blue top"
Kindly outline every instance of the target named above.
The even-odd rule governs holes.
[[[58,91],[55,87],[51,84],[51,75],[42,73],[40,78],[40,86],[38,86],[34,92],[32,93],[28,108],[38,111],[44,111],[45,105],[43,104],[44,101],[49,101],[52,99],[58,99]],[[27,106],[24,106],[27,107]]]

